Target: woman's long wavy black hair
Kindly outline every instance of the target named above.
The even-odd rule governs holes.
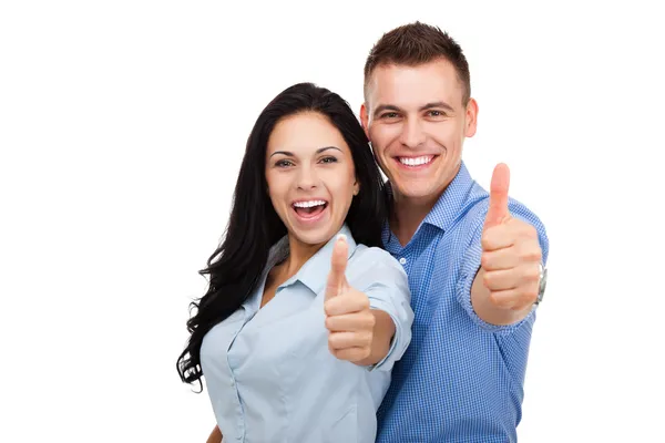
[[[311,83],[286,89],[263,110],[249,134],[224,240],[209,257],[207,267],[200,271],[202,276],[209,276],[209,285],[198,302],[191,303],[192,310],[196,309],[187,321],[191,337],[176,363],[183,382],[198,381],[203,389],[200,351],[204,336],[256,290],[270,247],[286,235],[286,227],[267,193],[266,146],[278,121],[307,111],[327,116],[351,151],[360,189],[351,202],[346,223],[355,240],[381,247],[386,192],[356,115],[344,99],[327,89]]]

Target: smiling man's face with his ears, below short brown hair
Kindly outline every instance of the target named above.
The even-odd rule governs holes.
[[[431,202],[454,178],[478,114],[474,100],[462,100],[447,60],[375,69],[360,119],[396,198]]]

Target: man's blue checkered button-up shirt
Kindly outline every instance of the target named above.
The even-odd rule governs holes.
[[[383,230],[386,249],[409,276],[416,317],[378,412],[378,443],[516,441],[535,309],[499,327],[471,307],[488,204],[462,163],[407,246]],[[542,223],[512,198],[509,210],[538,229],[546,262]]]

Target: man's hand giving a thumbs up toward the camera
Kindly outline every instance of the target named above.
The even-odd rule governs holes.
[[[497,165],[480,262],[484,274],[482,284],[490,291],[489,301],[495,308],[522,311],[530,309],[538,298],[542,250],[535,228],[513,218],[508,210],[509,185],[508,166]]]

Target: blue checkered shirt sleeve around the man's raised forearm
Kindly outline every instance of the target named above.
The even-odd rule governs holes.
[[[471,317],[471,320],[475,324],[489,332],[510,334],[516,329],[520,329],[522,324],[532,323],[535,320],[535,306],[533,307],[531,312],[529,312],[529,315],[526,315],[526,317],[524,317],[522,320],[512,324],[500,326],[488,323],[487,321],[478,317],[478,313],[475,313],[475,311],[473,310],[473,306],[471,305],[471,286],[473,285],[475,274],[478,274],[478,270],[480,269],[480,257],[482,255],[480,239],[482,236],[482,227],[488,212],[489,199],[485,199],[483,204],[484,208],[480,212],[480,216],[478,216],[475,223],[473,224],[474,227],[471,234],[471,240],[469,243],[467,251],[464,253],[464,257],[462,258],[462,266],[460,269],[460,276],[457,281],[456,288],[457,299],[462,305],[462,308],[464,308],[467,313],[469,313],[469,317]],[[509,199],[509,210],[511,213],[511,216],[520,218],[521,220],[533,225],[533,227],[535,227],[535,229],[538,230],[539,241],[541,245],[543,256],[542,264],[543,266],[545,266],[549,255],[549,239],[544,225],[532,212],[530,212],[526,207],[524,207],[522,204],[515,200]]]

